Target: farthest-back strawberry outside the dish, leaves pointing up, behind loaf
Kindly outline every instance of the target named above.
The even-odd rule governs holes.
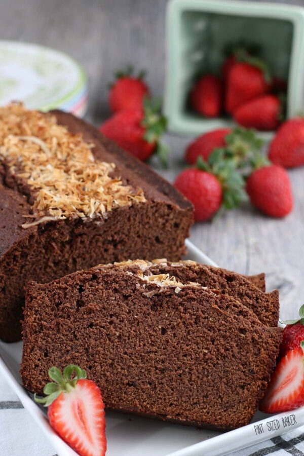
[[[112,112],[141,109],[149,88],[143,82],[144,72],[134,76],[132,67],[116,73],[116,81],[110,87],[108,103]]]

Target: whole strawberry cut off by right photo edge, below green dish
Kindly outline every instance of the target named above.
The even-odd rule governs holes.
[[[268,157],[284,168],[304,165],[304,119],[290,119],[281,125],[270,143]]]

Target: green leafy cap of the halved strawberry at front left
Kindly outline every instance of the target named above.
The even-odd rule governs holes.
[[[63,370],[63,374],[55,366],[51,367],[48,373],[53,382],[47,383],[43,389],[46,397],[39,398],[34,394],[35,402],[44,404],[45,407],[51,405],[61,393],[69,393],[72,391],[80,379],[87,378],[86,371],[75,364],[66,366]],[[75,373],[74,376],[73,373]]]

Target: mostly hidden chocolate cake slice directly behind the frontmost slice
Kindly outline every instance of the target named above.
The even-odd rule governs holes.
[[[280,302],[277,290],[265,293],[252,283],[252,277],[246,279],[226,269],[214,268],[199,264],[195,261],[170,262],[166,258],[153,261],[129,260],[125,262],[103,265],[104,268],[113,267],[136,273],[138,270],[145,275],[169,274],[181,282],[198,282],[208,288],[215,288],[221,293],[228,294],[240,300],[248,309],[251,309],[261,323],[268,326],[277,326],[279,320]],[[100,268],[100,265],[99,267]],[[253,281],[256,283],[256,277]],[[258,279],[257,283],[260,283]]]

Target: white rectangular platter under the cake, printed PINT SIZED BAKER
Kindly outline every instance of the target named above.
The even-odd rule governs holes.
[[[186,241],[187,259],[216,264],[192,242]],[[76,453],[52,430],[46,409],[35,404],[23,388],[19,366],[22,343],[0,341],[0,375],[17,394],[23,406],[43,430],[58,456]],[[304,425],[304,407],[292,412],[266,415],[257,412],[251,424],[234,431],[198,430],[134,415],[106,412],[107,456],[223,456],[232,451],[271,439]]]

